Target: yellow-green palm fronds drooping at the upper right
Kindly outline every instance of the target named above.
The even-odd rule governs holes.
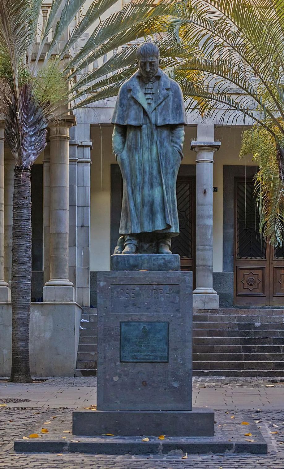
[[[273,245],[282,244],[284,1],[175,1],[171,13],[163,43],[169,50],[198,47],[171,68],[187,108],[224,123],[254,122],[244,133],[241,155],[253,153],[259,164],[261,229]]]

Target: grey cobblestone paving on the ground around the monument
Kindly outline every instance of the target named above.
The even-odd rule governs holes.
[[[52,382],[52,384],[51,384]],[[87,383],[87,384],[85,384]],[[33,389],[33,386],[60,386],[62,390],[76,386],[81,390],[82,386],[94,386],[94,378],[54,378],[45,381],[40,385],[24,385]],[[212,383],[216,383],[213,385]],[[242,384],[240,384],[242,383]],[[4,383],[3,383],[4,384]],[[267,377],[260,378],[195,378],[194,388],[195,391],[203,393],[206,391],[207,404],[210,407],[217,408],[220,405],[220,399],[217,399],[217,393],[214,388],[217,387],[224,391],[224,387],[229,386],[229,391],[234,390],[236,387],[243,388],[244,391],[252,389],[253,392],[263,390],[267,385],[276,385],[281,388],[284,384],[271,383]],[[258,386],[257,386],[258,385]],[[10,387],[11,386],[11,387]],[[5,390],[18,388],[22,391],[23,385],[2,386],[0,382],[0,398],[3,395],[3,388]],[[204,390],[205,386],[205,390]],[[247,388],[245,387],[247,386]],[[258,389],[257,389],[258,388]],[[52,389],[51,389],[52,390]],[[265,389],[264,389],[265,390]],[[241,400],[242,392],[240,391],[239,399]],[[80,391],[81,392],[81,391]],[[210,393],[211,392],[211,398]],[[281,392],[281,389],[276,389],[275,392]],[[9,391],[11,393],[11,391]],[[272,396],[272,389],[270,391]],[[80,397],[80,396],[79,396]],[[233,396],[236,397],[236,394]],[[251,454],[224,454],[224,455],[188,455],[187,459],[181,459],[182,454],[172,454],[168,456],[105,456],[94,454],[15,454],[13,450],[13,442],[29,429],[29,431],[36,429],[45,418],[48,416],[57,416],[58,425],[64,425],[66,419],[70,418],[73,406],[70,408],[56,408],[51,412],[52,406],[46,408],[22,407],[14,404],[14,407],[7,403],[7,406],[0,408],[0,468],[5,469],[179,469],[179,468],[194,468],[194,469],[283,469],[284,468],[284,391],[282,393],[282,409],[274,410],[273,398],[271,397],[271,409],[265,410],[246,410],[234,411],[232,409],[217,410],[217,418],[229,417],[225,414],[226,411],[233,410],[236,417],[239,414],[246,414],[254,421],[258,422],[260,431],[269,444],[269,454],[266,456],[258,456]],[[210,401],[209,401],[210,400]],[[79,401],[80,402],[80,401]],[[215,403],[217,405],[215,405]],[[221,400],[222,403],[222,400]],[[66,404],[67,405],[67,404]],[[80,407],[77,405],[77,407]],[[231,416],[231,413],[230,413]],[[277,426],[273,426],[277,425]],[[66,429],[68,430],[68,429]],[[272,433],[276,432],[277,433]]]

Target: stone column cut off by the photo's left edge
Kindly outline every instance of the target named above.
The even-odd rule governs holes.
[[[0,121],[0,303],[11,301],[11,292],[4,281],[4,121]]]

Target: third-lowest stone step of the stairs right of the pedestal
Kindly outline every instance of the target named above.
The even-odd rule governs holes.
[[[274,362],[284,360],[281,353],[194,353],[193,361],[201,362]]]

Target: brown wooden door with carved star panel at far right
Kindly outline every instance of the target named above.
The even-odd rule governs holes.
[[[254,182],[235,180],[234,303],[284,304],[284,250],[273,250],[259,233]]]

